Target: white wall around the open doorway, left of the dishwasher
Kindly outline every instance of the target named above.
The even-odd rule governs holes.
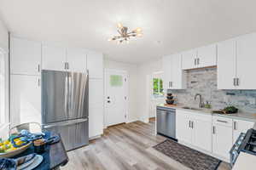
[[[143,122],[148,122],[148,116],[150,111],[150,103],[148,101],[150,96],[150,78],[153,72],[162,70],[161,59],[138,65],[138,83],[137,88],[137,111],[139,119]],[[147,88],[148,87],[148,88]]]

